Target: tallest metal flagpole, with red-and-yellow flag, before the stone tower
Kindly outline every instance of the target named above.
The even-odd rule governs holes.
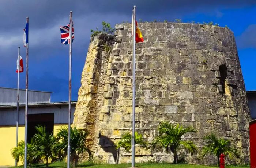
[[[136,21],[136,6],[133,7],[133,81],[132,81],[132,167],[135,164],[135,21]]]

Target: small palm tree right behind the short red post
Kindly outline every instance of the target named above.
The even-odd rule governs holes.
[[[233,157],[239,158],[240,153],[236,148],[231,147],[229,140],[218,138],[214,133],[206,135],[203,139],[207,140],[207,145],[205,145],[199,153],[200,159],[202,159],[206,154],[215,155],[218,158],[219,165],[219,156],[221,153],[228,155],[230,159]]]

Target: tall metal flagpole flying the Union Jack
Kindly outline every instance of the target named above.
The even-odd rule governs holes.
[[[69,23],[69,96],[68,96],[68,168],[70,168],[70,117],[71,117],[71,60],[72,60],[72,11]]]

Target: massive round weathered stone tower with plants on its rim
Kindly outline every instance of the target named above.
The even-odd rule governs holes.
[[[212,25],[139,23],[144,42],[136,44],[136,131],[145,140],[157,135],[160,121],[192,125],[184,138],[204,145],[215,132],[241,152],[248,163],[248,103],[233,32]],[[108,163],[131,161],[114,142],[132,128],[132,28],[117,24],[113,35],[91,38],[74,125],[88,129],[95,156]],[[216,163],[185,155],[189,163]],[[161,149],[136,148],[138,161],[173,161]]]

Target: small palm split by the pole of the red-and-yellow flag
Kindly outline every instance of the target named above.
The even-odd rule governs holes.
[[[141,134],[135,131],[134,133],[134,143],[141,145],[143,148],[148,146],[147,141],[143,140]],[[132,135],[130,132],[125,132],[121,135],[121,140],[116,143],[116,149],[124,148],[125,152],[129,152],[132,148]]]

